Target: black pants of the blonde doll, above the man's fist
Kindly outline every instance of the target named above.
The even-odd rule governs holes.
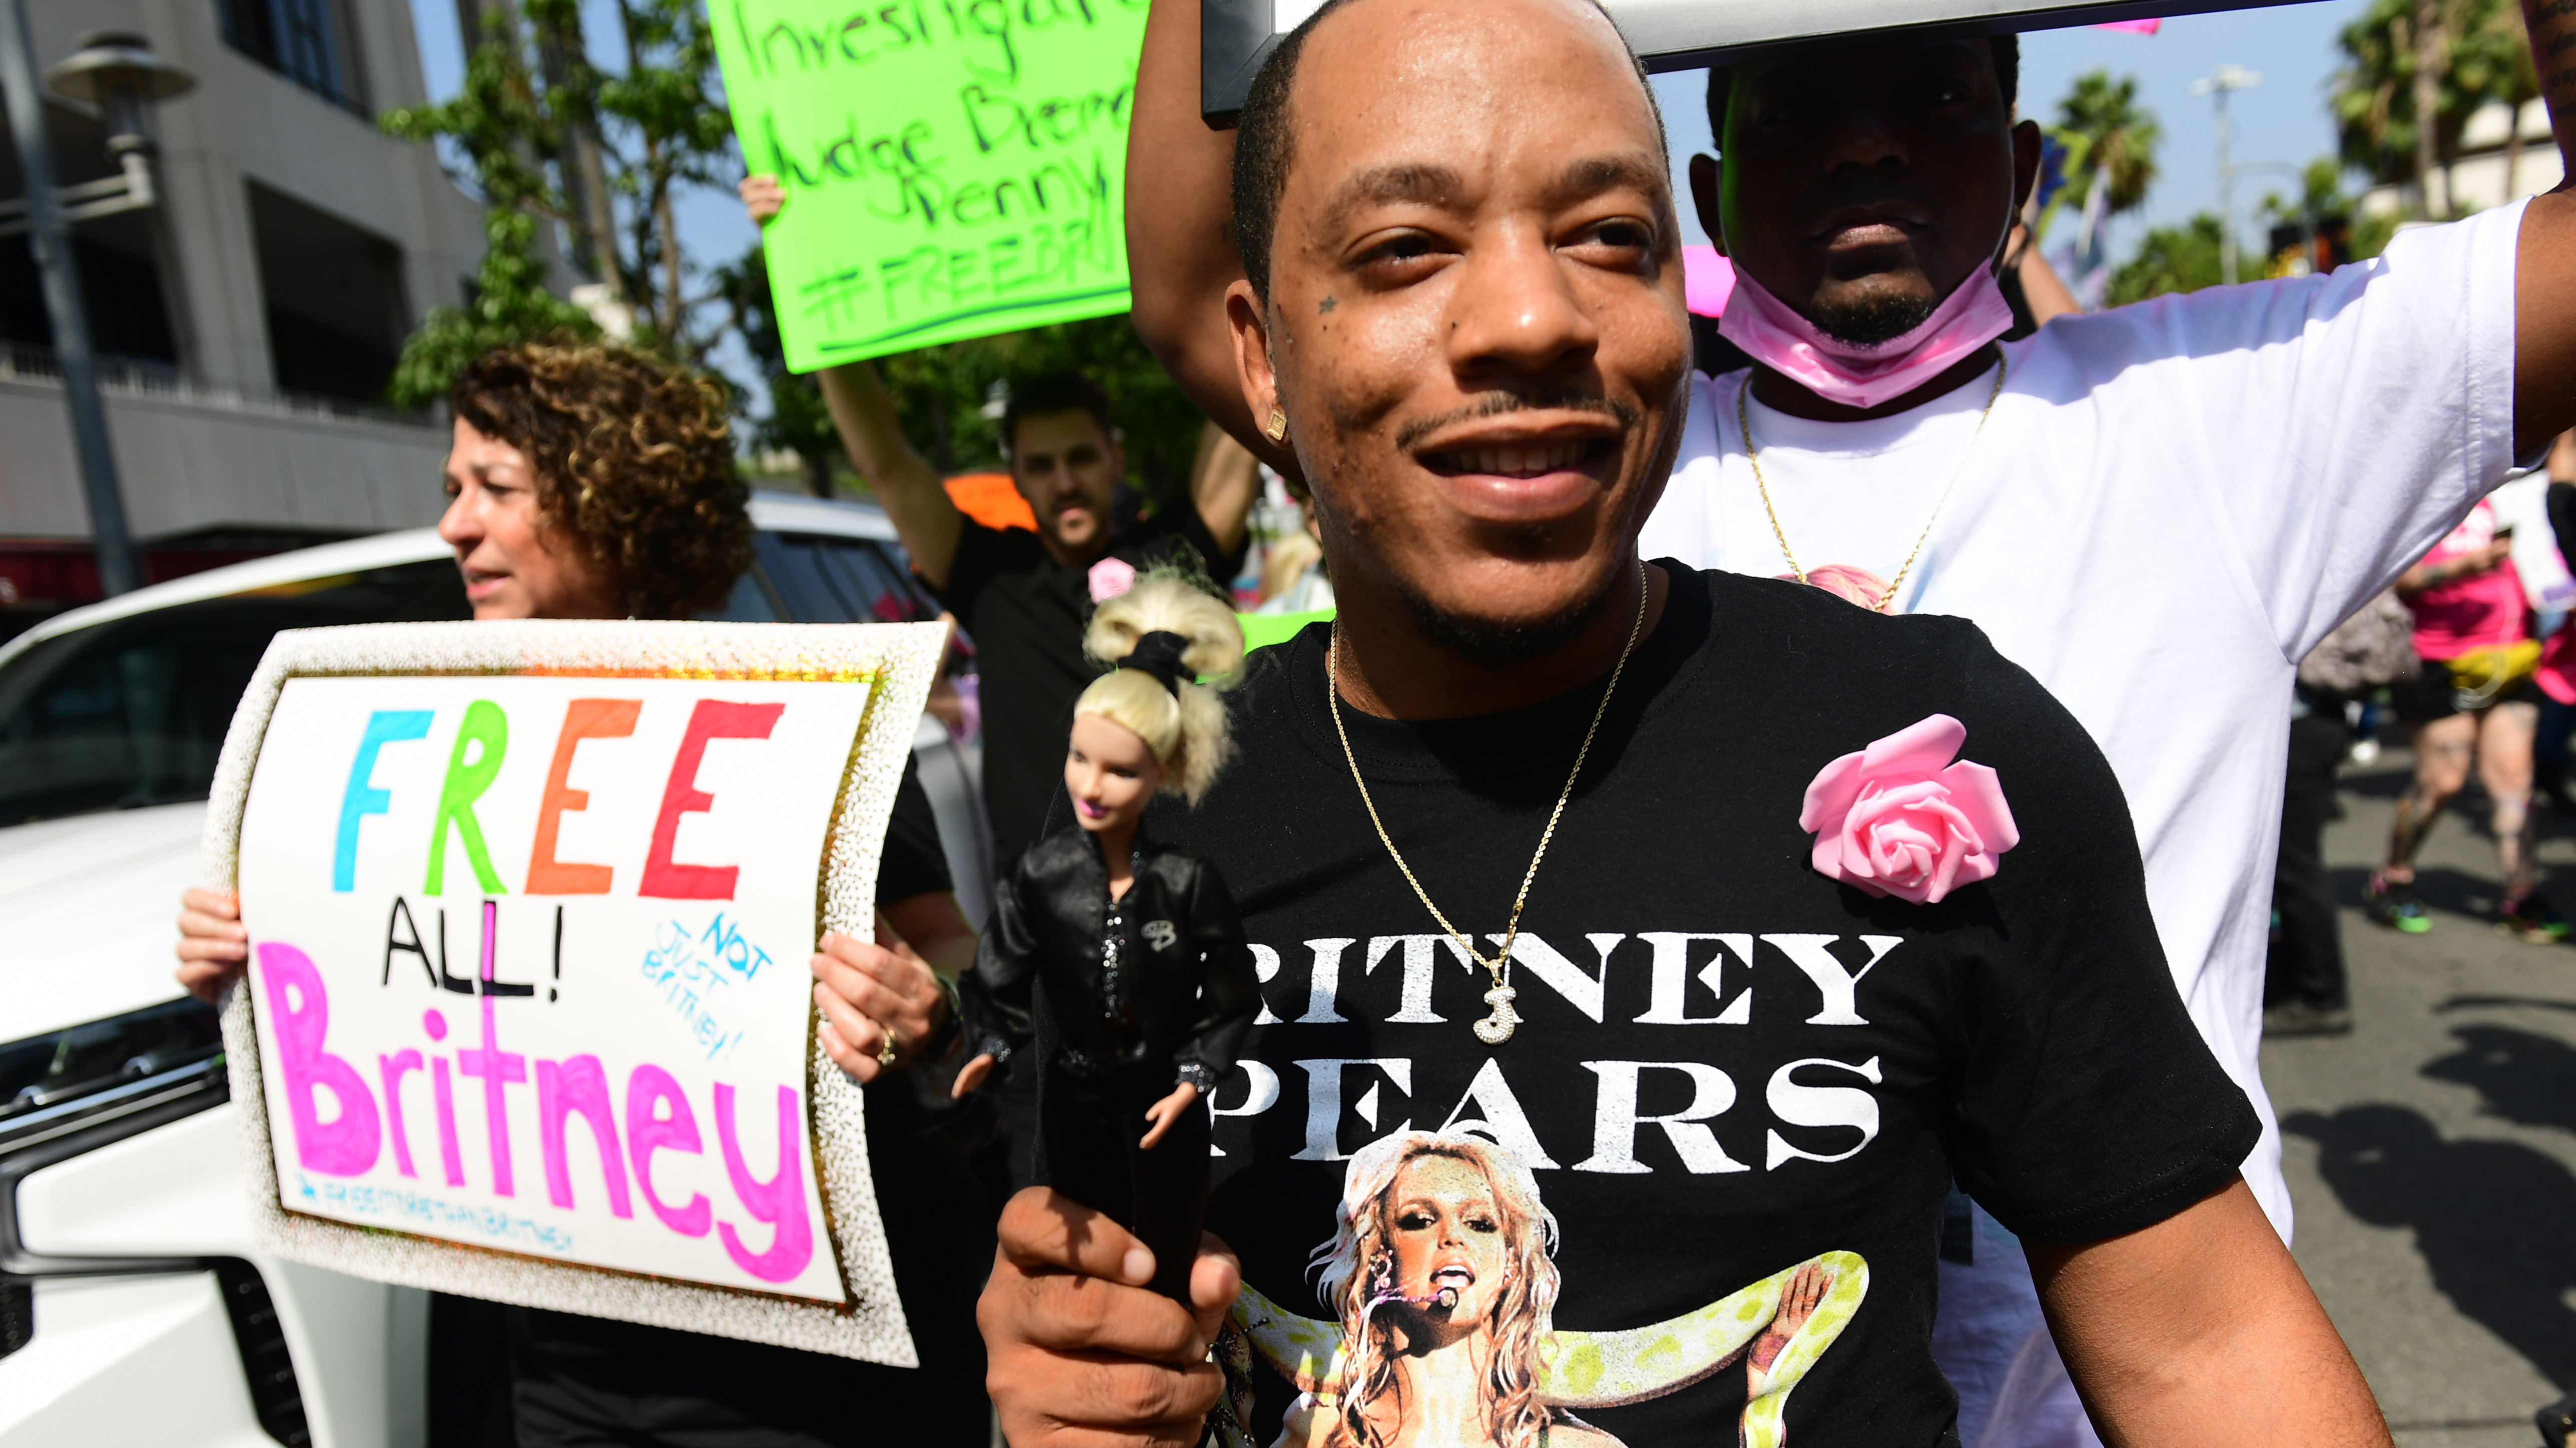
[[[1208,1216],[1208,1105],[1193,1103],[1151,1152],[1144,1110],[1172,1095],[1164,1074],[1090,1082],[1046,1069],[1038,1082],[1038,1180],[1108,1214],[1154,1252],[1154,1291],[1188,1306],[1190,1262]]]

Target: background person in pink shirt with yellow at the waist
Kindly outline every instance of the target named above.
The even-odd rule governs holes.
[[[2398,598],[2416,618],[2416,654],[2424,670],[2391,685],[2398,721],[2416,755],[2414,788],[2398,799],[2388,832],[2388,863],[2370,873],[2372,920],[2409,935],[2432,928],[2414,889],[2414,853],[2442,806],[2478,781],[2494,801],[2496,863],[2504,899],[2496,928],[2532,943],[2566,940],[2568,922],[2532,889],[2532,732],[2540,721],[2532,639],[2522,575],[2514,572],[2512,531],[2496,528],[2491,502],[2434,544],[2398,577]]]

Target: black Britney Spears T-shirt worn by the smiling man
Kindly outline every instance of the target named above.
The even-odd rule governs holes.
[[[1255,654],[1242,752],[1149,827],[1224,871],[1262,1015],[1211,1100],[1242,1433],[1497,1445],[1955,1443],[1929,1353],[1953,1177],[2035,1242],[2161,1221],[2257,1121],[2182,1010],[2120,788],[1955,618],[1672,575],[1530,889],[1517,1031],[1352,786],[1324,626]],[[1342,709],[1386,830],[1492,953],[1600,683],[1484,719]],[[1811,866],[1816,773],[1929,714],[2020,827],[1991,881]]]

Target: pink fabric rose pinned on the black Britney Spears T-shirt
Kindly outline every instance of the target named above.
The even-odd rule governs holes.
[[[1932,714],[1824,765],[1798,812],[1816,871],[1914,904],[1994,879],[1994,858],[2022,832],[1994,770],[1958,757],[1963,742],[1965,724]]]

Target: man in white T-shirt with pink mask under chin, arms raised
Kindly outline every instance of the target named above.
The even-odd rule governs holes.
[[[2576,59],[2548,41],[2576,46],[2576,15],[2545,10],[2558,93]],[[1146,67],[1195,67],[1195,3],[1154,5]],[[1723,330],[1765,366],[1692,379],[1641,546],[1968,616],[2058,693],[2128,791],[2177,987],[2264,1116],[2244,1177],[2287,1237],[2257,1046],[2293,665],[2576,423],[2576,196],[1996,343],[1994,265],[2040,160],[2014,70],[1996,36],[1816,41],[1713,72],[1726,165],[1698,157],[1692,188],[1739,276]],[[1242,276],[1231,137],[1185,95],[1139,85],[1136,327],[1211,417],[1296,466],[1218,325]],[[2566,155],[2576,106],[2555,129]],[[1960,1244],[1976,1265],[1945,1278],[1942,1314],[1968,1448],[2038,1443],[2017,1425],[2048,1420],[2089,1438],[2017,1247],[1984,1219]]]

